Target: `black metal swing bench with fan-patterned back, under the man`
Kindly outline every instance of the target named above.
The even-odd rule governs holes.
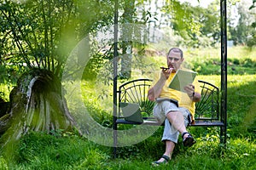
[[[153,116],[154,102],[148,100],[148,89],[152,80],[137,79],[125,82],[119,86],[117,116],[113,116],[113,146],[118,142],[119,124],[160,126]],[[190,123],[189,127],[220,127],[220,142],[223,143],[224,135],[224,115],[219,107],[219,89],[209,82],[199,80],[201,86],[201,101],[195,104],[195,122]],[[140,106],[143,114],[143,123],[126,121],[120,109],[120,102],[136,103]],[[116,149],[116,148],[115,148]],[[114,151],[114,155],[115,155]]]

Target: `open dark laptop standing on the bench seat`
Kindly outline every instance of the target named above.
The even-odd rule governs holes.
[[[143,123],[143,115],[140,109],[140,105],[134,103],[119,103],[125,121]]]

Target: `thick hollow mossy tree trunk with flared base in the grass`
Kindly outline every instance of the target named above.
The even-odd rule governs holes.
[[[20,77],[10,94],[10,110],[0,118],[1,142],[31,131],[68,130],[76,125],[61,94],[61,81],[51,71],[34,69]]]

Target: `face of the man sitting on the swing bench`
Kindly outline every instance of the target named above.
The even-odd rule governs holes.
[[[171,51],[170,54],[167,55],[168,68],[173,68],[173,71],[177,71],[182,63],[183,58],[181,58],[180,53]]]

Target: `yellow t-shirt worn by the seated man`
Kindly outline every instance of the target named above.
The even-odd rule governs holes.
[[[188,69],[182,69],[182,70],[187,70],[188,71]],[[161,71],[157,72],[154,75],[154,80],[153,80],[152,86],[154,86],[154,84],[159,81],[160,74],[161,74]],[[164,87],[162,88],[162,91],[161,91],[159,97],[160,98],[167,98],[167,99],[176,99],[178,101],[178,106],[188,109],[190,111],[190,113],[192,114],[193,120],[194,120],[195,102],[193,102],[189,98],[188,94],[177,91],[177,90],[174,90],[172,88],[168,88],[170,82],[172,81],[172,77],[174,77],[174,75],[175,75],[175,73],[172,73],[170,75],[170,77],[166,80],[166,83],[165,83]],[[201,94],[201,88],[199,86],[197,77],[195,77],[195,80],[192,84],[195,86],[195,93]]]

